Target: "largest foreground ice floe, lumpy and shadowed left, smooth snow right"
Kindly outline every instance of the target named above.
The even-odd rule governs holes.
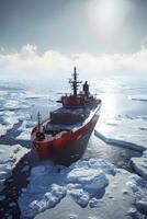
[[[92,168],[91,163],[93,164]],[[31,174],[30,185],[20,197],[19,204],[22,216],[24,218],[33,218],[35,216],[36,219],[144,218],[147,211],[147,182],[125,170],[115,169],[105,161],[104,163],[105,168],[103,169],[101,165],[102,160],[79,161],[69,168],[60,166],[60,172],[57,171],[59,166],[42,165],[35,168],[32,171],[33,174],[35,172],[36,176],[34,175],[35,177],[33,178]],[[106,171],[106,166],[109,171]],[[115,174],[110,172],[110,169],[113,169]],[[87,189],[83,183],[88,182],[87,178],[89,176],[89,184],[93,181],[90,173],[86,176],[86,171],[89,170],[90,172],[93,171],[93,177],[95,177],[95,170],[102,171],[105,175],[103,181],[98,184],[98,187],[93,186],[94,193]],[[33,180],[34,183],[32,182]],[[44,181],[46,181],[46,185]],[[53,185],[56,185],[56,187],[61,186],[59,191],[64,196],[54,197]],[[100,189],[101,186],[104,186],[104,189]],[[102,191],[104,194],[99,196]],[[45,194],[49,197],[49,200],[47,199],[49,204],[45,203]],[[56,208],[52,206],[56,206]]]

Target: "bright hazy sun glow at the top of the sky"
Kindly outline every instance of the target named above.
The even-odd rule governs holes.
[[[91,0],[88,9],[91,26],[104,35],[115,32],[123,19],[122,7],[117,0]]]

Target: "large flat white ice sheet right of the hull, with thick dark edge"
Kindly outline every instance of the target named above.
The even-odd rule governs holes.
[[[106,143],[144,151],[147,149],[147,120],[143,118],[114,118],[99,125],[94,134]]]

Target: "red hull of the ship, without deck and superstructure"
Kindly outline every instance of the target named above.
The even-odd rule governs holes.
[[[97,107],[93,115],[88,122],[77,128],[76,130],[70,130],[61,135],[61,137],[53,137],[44,140],[36,139],[37,127],[32,130],[32,141],[35,148],[35,151],[42,159],[52,159],[52,160],[63,160],[66,159],[68,151],[77,147],[81,153],[83,153],[88,139],[99,119],[100,108]],[[68,158],[67,158],[68,159]]]

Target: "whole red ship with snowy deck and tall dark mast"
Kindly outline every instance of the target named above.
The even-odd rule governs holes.
[[[33,128],[31,137],[34,149],[42,159],[63,163],[63,160],[77,155],[75,149],[82,155],[98,122],[102,101],[90,94],[88,81],[78,93],[81,81],[77,80],[77,76],[75,67],[74,78],[69,80],[74,93],[61,96],[58,102],[63,107],[50,112],[49,118],[44,123],[41,123],[38,113],[38,124]]]

